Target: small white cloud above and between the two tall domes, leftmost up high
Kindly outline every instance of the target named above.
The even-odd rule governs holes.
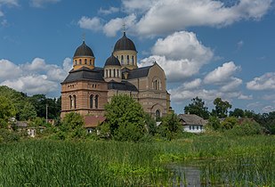
[[[93,31],[98,31],[102,28],[101,19],[97,17],[88,18],[86,16],[83,16],[80,20],[78,20],[77,23],[80,28],[86,28]]]

